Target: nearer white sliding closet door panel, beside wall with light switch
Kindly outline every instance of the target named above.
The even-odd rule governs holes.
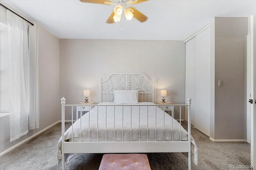
[[[210,136],[210,27],[196,35],[195,127]]]

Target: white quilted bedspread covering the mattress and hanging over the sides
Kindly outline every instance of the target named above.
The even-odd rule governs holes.
[[[138,103],[148,106],[100,105],[113,105],[113,103],[101,103],[95,106],[90,114],[86,113],[78,119],[73,124],[73,131],[70,127],[65,132],[66,141],[131,141],[131,138],[132,141],[188,140],[188,133],[180,127],[180,123],[153,103]],[[192,162],[197,165],[197,147],[193,138],[191,143]],[[60,150],[61,138],[58,142],[58,162],[61,160]]]

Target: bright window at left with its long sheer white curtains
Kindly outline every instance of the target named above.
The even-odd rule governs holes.
[[[10,10],[1,12],[6,17],[1,13],[0,117],[10,115],[12,142],[39,127],[36,114],[37,25],[29,27],[26,20]]]

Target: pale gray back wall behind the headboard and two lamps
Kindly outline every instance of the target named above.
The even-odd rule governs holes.
[[[166,89],[166,101],[184,103],[183,41],[60,39],[60,97],[66,104],[83,102],[84,89],[90,89],[89,101],[98,103],[98,79],[124,72],[154,78],[155,101],[161,101],[160,90]]]

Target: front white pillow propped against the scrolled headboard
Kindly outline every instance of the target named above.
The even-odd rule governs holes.
[[[116,104],[136,104],[136,92],[118,92],[116,93]]]

